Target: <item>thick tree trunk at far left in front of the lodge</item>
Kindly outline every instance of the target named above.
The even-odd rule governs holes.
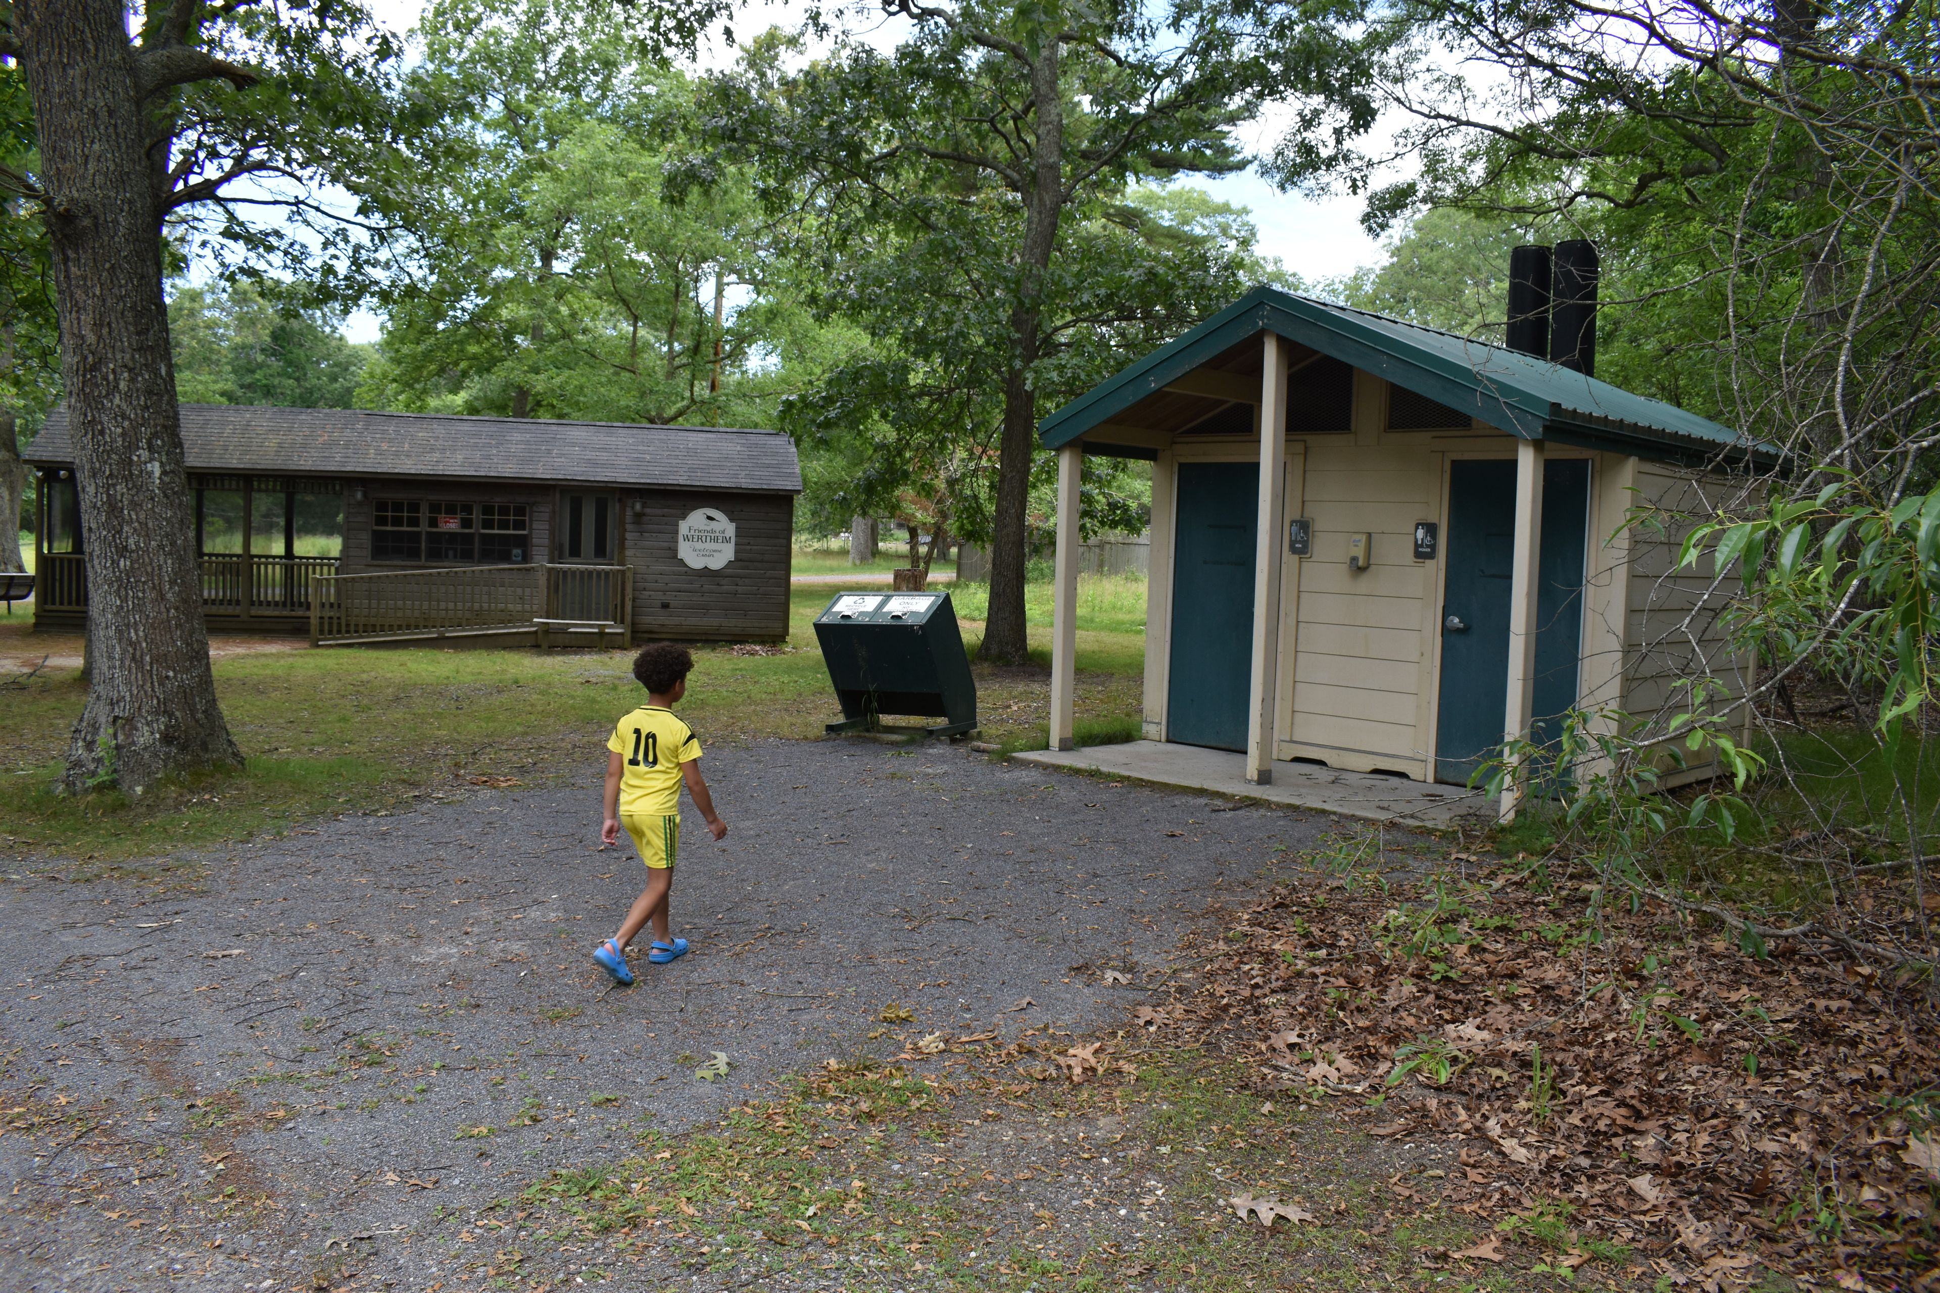
[[[242,762],[202,622],[147,159],[155,122],[122,6],[19,0],[14,31],[41,134],[87,552],[93,678],[62,785],[140,793],[169,773]]]

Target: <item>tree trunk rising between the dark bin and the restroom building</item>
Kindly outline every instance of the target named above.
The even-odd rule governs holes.
[[[1030,68],[1038,105],[1038,138],[1032,151],[1032,184],[1024,194],[1024,246],[1017,306],[1011,310],[1011,370],[1003,380],[1003,438],[997,448],[997,508],[989,545],[989,618],[978,659],[1020,665],[1028,653],[1024,634],[1024,566],[1028,562],[1026,512],[1030,461],[1038,448],[1038,399],[1030,388],[1038,363],[1038,322],[1044,271],[1057,244],[1057,219],[1065,194],[1065,118],[1057,83],[1057,39],[1046,39]]]

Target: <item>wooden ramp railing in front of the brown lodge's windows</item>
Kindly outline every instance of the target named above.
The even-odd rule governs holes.
[[[632,630],[630,566],[456,566],[320,574],[310,642],[415,642],[532,632],[539,620]],[[603,640],[603,638],[601,638]]]

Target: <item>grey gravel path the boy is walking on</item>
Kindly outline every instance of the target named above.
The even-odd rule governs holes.
[[[630,991],[588,960],[640,880],[596,847],[594,764],[213,853],[192,892],[8,876],[0,1287],[291,1287],[353,1235],[359,1283],[429,1287],[435,1210],[619,1157],[627,1124],[935,1029],[1123,1018],[1143,991],[1106,967],[1162,965],[1329,824],[941,746],[702,766],[731,834],[691,822],[695,950]],[[731,1074],[695,1080],[714,1051]]]

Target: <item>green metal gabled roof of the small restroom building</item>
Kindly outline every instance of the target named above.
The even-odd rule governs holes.
[[[1240,341],[1273,331],[1523,440],[1558,440],[1661,461],[1775,461],[1777,452],[1661,399],[1633,395],[1521,351],[1381,314],[1255,287],[1245,297],[1038,423],[1057,448],[1164,390]]]

